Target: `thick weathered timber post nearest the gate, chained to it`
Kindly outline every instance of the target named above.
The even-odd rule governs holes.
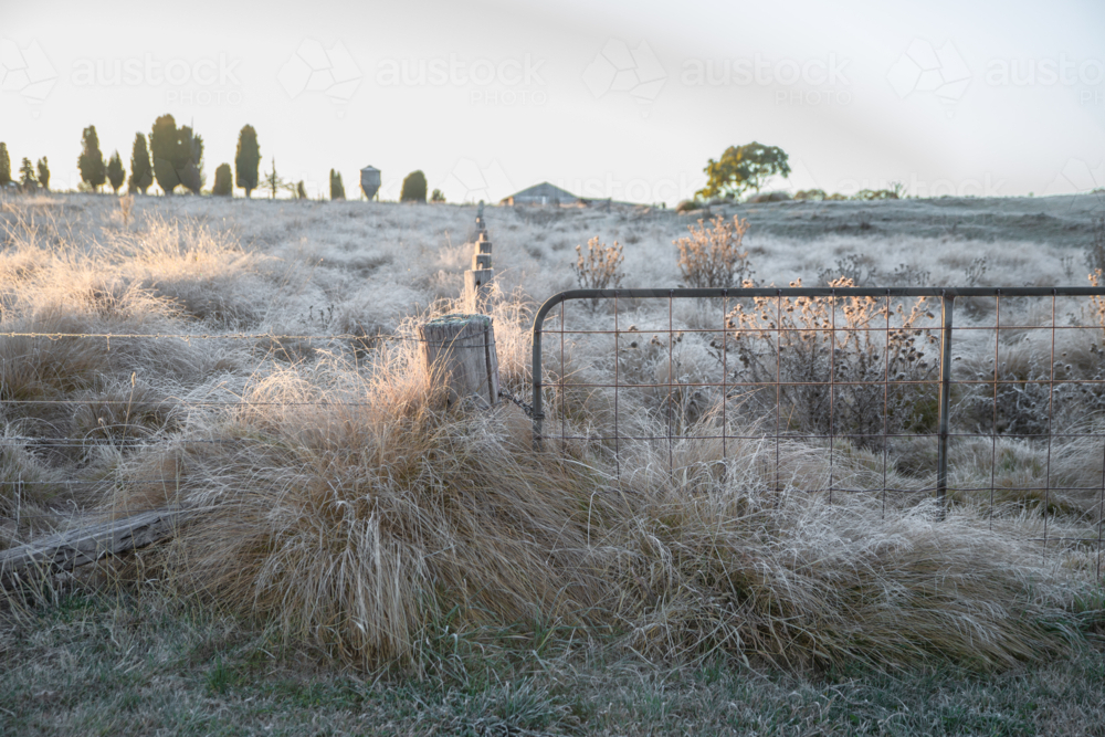
[[[498,354],[491,317],[446,315],[418,330],[425,367],[448,385],[450,404],[466,397],[488,407],[498,402]]]

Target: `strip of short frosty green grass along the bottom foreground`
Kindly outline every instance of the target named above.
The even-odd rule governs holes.
[[[1099,643],[1001,674],[801,676],[446,633],[417,678],[337,670],[271,632],[156,597],[70,592],[0,617],[2,735],[1105,733]]]

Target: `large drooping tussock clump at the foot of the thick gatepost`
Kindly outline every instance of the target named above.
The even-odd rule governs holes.
[[[591,608],[579,499],[593,474],[445,412],[410,344],[378,360],[368,381],[320,362],[250,390],[219,429],[235,442],[185,471],[202,481],[176,502],[202,512],[165,548],[165,576],[371,665],[417,663],[454,607],[472,624]]]

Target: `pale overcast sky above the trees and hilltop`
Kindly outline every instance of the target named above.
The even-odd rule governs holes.
[[[252,124],[264,167],[450,201],[548,180],[691,197],[726,147],[772,187],[1020,196],[1105,187],[1105,2],[23,2],[0,0],[0,140],[75,188],[81,131],[129,168],[171,113],[208,185]]]

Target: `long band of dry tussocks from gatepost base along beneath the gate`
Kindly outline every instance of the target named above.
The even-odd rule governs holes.
[[[760,475],[765,446],[723,457],[719,442],[681,445],[671,467],[639,449],[615,480],[601,455],[533,453],[495,413],[446,411],[411,344],[370,370],[274,367],[244,399],[209,429],[224,442],[141,460],[181,465],[162,502],[196,510],[144,570],[361,666],[419,667],[443,620],[791,667],[1004,667],[1080,636],[1069,608],[1084,579],[1027,539],[1029,517],[830,504],[798,491],[823,488],[827,468],[797,443],[779,488]],[[849,457],[870,472],[861,453],[836,473]],[[120,488],[118,510],[150,503]]]

